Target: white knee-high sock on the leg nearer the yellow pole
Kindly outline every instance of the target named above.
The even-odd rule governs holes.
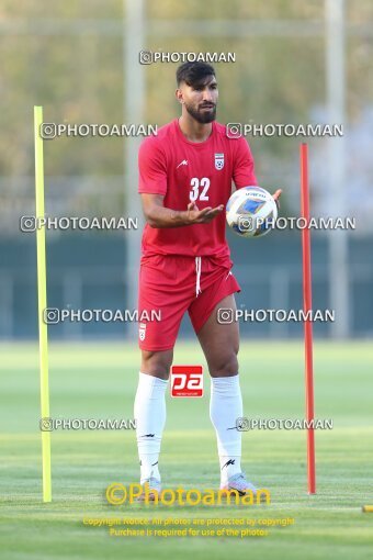
[[[140,460],[140,484],[150,477],[160,480],[158,458],[166,424],[167,383],[163,379],[139,372],[134,417]]]

